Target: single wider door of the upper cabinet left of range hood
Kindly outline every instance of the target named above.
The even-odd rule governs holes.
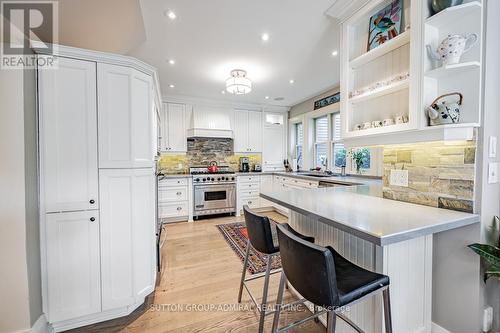
[[[187,150],[186,138],[186,106],[184,104],[168,103],[168,149],[172,152]]]

